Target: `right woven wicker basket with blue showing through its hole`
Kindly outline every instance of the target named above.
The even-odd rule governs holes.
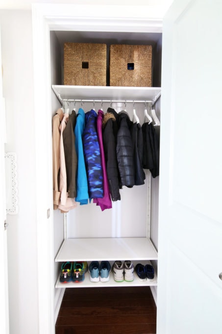
[[[110,46],[110,86],[152,85],[151,45]]]

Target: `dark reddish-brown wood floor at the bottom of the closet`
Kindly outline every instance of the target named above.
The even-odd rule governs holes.
[[[67,288],[55,334],[155,334],[150,288]]]

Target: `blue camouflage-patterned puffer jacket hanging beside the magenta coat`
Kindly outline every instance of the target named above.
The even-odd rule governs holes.
[[[86,112],[86,125],[82,135],[88,190],[90,198],[103,197],[103,175],[97,136],[97,113],[95,110]]]

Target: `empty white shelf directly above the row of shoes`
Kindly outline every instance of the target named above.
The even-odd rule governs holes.
[[[149,238],[72,238],[65,239],[55,258],[65,261],[157,260]]]

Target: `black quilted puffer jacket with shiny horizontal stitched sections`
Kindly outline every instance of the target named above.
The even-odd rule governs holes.
[[[119,130],[117,134],[117,162],[121,184],[128,188],[135,185],[133,144],[130,135],[132,122],[126,111],[119,112]]]

